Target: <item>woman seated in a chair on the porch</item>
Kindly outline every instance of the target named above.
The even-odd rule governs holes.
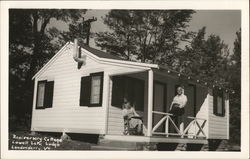
[[[124,102],[123,108],[124,118],[124,135],[131,134],[130,129],[136,129],[134,135],[142,134],[142,120],[141,117],[135,112],[134,107],[131,106],[130,102]]]

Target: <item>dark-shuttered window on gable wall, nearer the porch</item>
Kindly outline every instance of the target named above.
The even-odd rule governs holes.
[[[92,73],[90,76],[82,77],[80,106],[101,106],[103,72]]]

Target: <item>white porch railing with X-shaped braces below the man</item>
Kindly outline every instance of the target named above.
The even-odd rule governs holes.
[[[172,136],[180,136],[182,138],[185,137],[185,136],[187,136],[187,137],[193,137],[193,138],[197,138],[197,137],[204,137],[204,138],[206,138],[206,133],[203,130],[203,127],[204,127],[204,125],[206,123],[206,119],[188,116],[187,118],[191,119],[191,122],[184,129],[184,131],[181,132],[180,129],[178,128],[178,126],[175,124],[175,122],[171,118],[171,117],[173,117],[173,114],[159,112],[159,111],[152,111],[152,112],[154,114],[164,115],[159,120],[159,122],[153,127],[152,134],[155,134],[155,135],[166,135],[166,137],[168,137],[169,135],[172,135]],[[164,123],[164,121],[165,121],[165,132],[157,132],[156,130]],[[199,121],[201,121],[202,123],[200,124]],[[176,130],[176,133],[170,133],[169,132],[169,127],[171,125]],[[197,127],[198,127],[198,129],[197,129]],[[188,133],[191,128],[194,128],[194,133],[193,134]],[[200,133],[202,133],[203,136],[199,135]]]

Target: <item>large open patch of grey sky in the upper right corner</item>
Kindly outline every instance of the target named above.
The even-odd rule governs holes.
[[[219,35],[233,49],[236,32],[241,28],[241,13],[239,10],[200,10],[193,14],[188,30],[198,31],[206,27],[206,36]]]

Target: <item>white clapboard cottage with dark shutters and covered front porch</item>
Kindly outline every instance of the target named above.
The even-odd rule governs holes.
[[[229,139],[229,93],[224,89],[87,46],[77,54],[76,47],[66,43],[33,77],[31,131],[101,134],[106,140],[148,143]],[[188,97],[183,130],[167,113],[180,84]],[[142,136],[123,135],[125,96],[143,117]]]

